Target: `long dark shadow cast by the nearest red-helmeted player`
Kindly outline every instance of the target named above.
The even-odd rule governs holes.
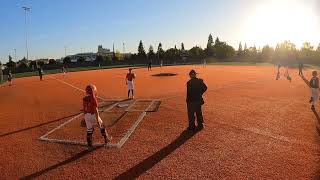
[[[41,175],[43,175],[43,174],[45,174],[45,173],[47,173],[47,172],[49,172],[49,171],[51,171],[51,170],[54,170],[54,169],[56,169],[56,168],[59,168],[59,167],[64,166],[64,165],[66,165],[66,164],[69,164],[69,163],[71,163],[71,162],[73,162],[73,161],[76,161],[76,160],[78,160],[78,159],[86,156],[87,154],[89,154],[89,153],[91,153],[91,152],[93,152],[93,151],[95,151],[95,150],[97,150],[97,149],[100,149],[100,148],[102,148],[102,147],[103,147],[103,146],[98,146],[98,147],[94,147],[94,148],[91,149],[91,150],[83,150],[83,151],[79,152],[78,154],[76,154],[76,155],[74,155],[74,156],[72,156],[72,157],[70,157],[70,158],[68,158],[68,159],[66,159],[66,160],[64,160],[64,161],[62,161],[62,162],[60,162],[60,163],[57,163],[57,164],[55,164],[55,165],[52,165],[52,166],[50,166],[50,167],[48,167],[48,168],[46,168],[46,169],[37,171],[37,172],[35,172],[35,173],[33,173],[33,174],[30,174],[30,175],[28,175],[28,176],[24,176],[24,177],[22,177],[22,178],[20,178],[20,179],[34,179],[34,178],[39,177],[39,176],[41,176]]]

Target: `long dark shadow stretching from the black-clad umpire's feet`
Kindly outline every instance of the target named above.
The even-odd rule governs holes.
[[[177,137],[174,141],[172,141],[169,145],[162,148],[158,152],[154,153],[153,155],[149,156],[147,159],[143,160],[139,164],[135,165],[134,167],[128,169],[126,172],[120,174],[119,176],[115,177],[114,179],[135,179],[139,177],[144,172],[151,169],[154,165],[159,163],[162,159],[166,158],[172,152],[174,152],[177,148],[187,142],[191,137],[196,135],[199,131],[183,131],[179,137]]]

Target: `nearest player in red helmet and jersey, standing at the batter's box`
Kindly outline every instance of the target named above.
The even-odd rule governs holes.
[[[87,126],[87,143],[88,147],[92,148],[92,135],[93,135],[93,124],[98,123],[101,135],[104,138],[105,143],[107,144],[111,137],[107,134],[103,121],[100,118],[98,110],[98,100],[97,100],[97,88],[94,85],[88,85],[86,87],[87,95],[83,98],[83,111],[84,111],[84,120]]]

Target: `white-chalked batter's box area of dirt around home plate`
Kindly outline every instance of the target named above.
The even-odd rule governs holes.
[[[112,141],[105,145],[100,129],[94,126],[93,146],[121,148],[138,127],[147,112],[156,112],[161,104],[157,99],[105,100],[99,103],[100,117]],[[78,114],[39,138],[52,143],[86,146],[86,126],[83,113]]]

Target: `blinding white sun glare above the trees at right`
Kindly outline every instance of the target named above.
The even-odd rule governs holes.
[[[249,16],[244,37],[248,43],[259,46],[290,40],[300,47],[305,41],[317,40],[317,18],[312,7],[302,1],[270,1],[258,6]]]

